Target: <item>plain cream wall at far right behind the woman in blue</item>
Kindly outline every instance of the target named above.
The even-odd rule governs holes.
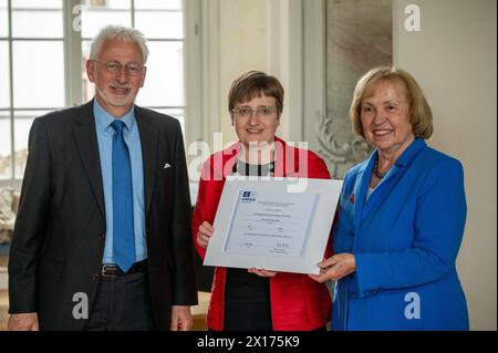
[[[434,113],[429,144],[465,168],[467,225],[457,268],[471,330],[497,329],[497,58],[495,0],[394,0],[395,63],[421,83]],[[407,4],[421,31],[407,32]]]

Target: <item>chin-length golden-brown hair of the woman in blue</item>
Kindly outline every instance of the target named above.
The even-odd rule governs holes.
[[[415,79],[406,71],[395,66],[372,69],[357,82],[350,107],[350,118],[356,134],[365,137],[361,121],[362,101],[365,97],[366,91],[380,81],[400,83],[408,101],[409,123],[412,124],[413,134],[424,139],[429,138],[433,134],[433,113],[430,106],[427,104],[424,93]]]

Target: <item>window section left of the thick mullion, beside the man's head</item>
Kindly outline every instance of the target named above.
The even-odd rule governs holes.
[[[65,105],[63,32],[62,0],[0,0],[0,179],[22,178],[33,118]]]

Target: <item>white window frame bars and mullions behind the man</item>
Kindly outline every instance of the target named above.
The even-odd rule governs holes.
[[[201,18],[201,0],[181,0],[183,1],[183,14],[184,14],[184,37],[181,41],[184,43],[184,105],[183,106],[151,106],[151,108],[181,108],[184,111],[184,143],[188,145],[190,142],[199,139],[203,135],[201,124],[201,35],[200,35],[200,18]],[[81,70],[82,58],[82,32],[74,31],[73,24],[77,23],[81,12],[77,11],[77,6],[81,6],[81,0],[64,0],[62,1],[62,17],[63,17],[63,38],[62,39],[48,39],[37,38],[33,40],[56,40],[63,43],[63,60],[64,60],[64,104],[65,107],[76,106],[85,103],[83,97],[83,82]],[[131,17],[132,25],[135,24],[135,0],[131,0]],[[8,108],[0,108],[2,112],[7,112],[10,115],[10,150],[11,150],[11,177],[0,180],[0,187],[11,186],[14,189],[20,189],[22,178],[15,177],[13,155],[14,148],[14,111],[45,111],[55,110],[61,107],[33,107],[23,108],[14,107],[13,105],[13,70],[12,70],[12,42],[18,40],[12,37],[12,3],[11,0],[7,1],[8,11],[8,37],[2,38],[1,41],[8,42],[8,59],[9,59],[9,90],[10,101]],[[22,38],[22,40],[29,40]],[[155,41],[152,39],[151,41]],[[163,41],[163,40],[158,40]],[[167,40],[165,40],[167,41]],[[147,106],[149,107],[149,106]]]

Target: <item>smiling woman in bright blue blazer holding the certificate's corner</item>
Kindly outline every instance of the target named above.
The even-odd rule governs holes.
[[[455,261],[467,214],[461,164],[426,145],[432,112],[417,82],[378,68],[357,83],[350,116],[376,149],[344,177],[335,255],[333,330],[468,330]]]

